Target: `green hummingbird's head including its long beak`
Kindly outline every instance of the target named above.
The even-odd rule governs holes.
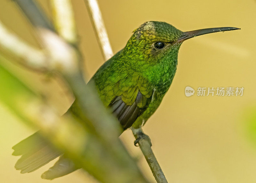
[[[183,32],[159,21],[148,21],[133,31],[124,51],[136,60],[151,64],[163,60],[177,60],[180,45],[185,40],[203,34],[236,30],[236,27],[216,27]]]

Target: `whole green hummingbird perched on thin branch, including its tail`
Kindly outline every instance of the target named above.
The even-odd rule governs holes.
[[[215,27],[183,32],[166,22],[147,21],[133,31],[125,47],[106,61],[89,83],[96,86],[102,103],[116,116],[123,130],[139,129],[159,107],[172,84],[181,44],[199,35],[237,29],[240,28]],[[58,156],[54,165],[58,171],[50,168],[42,178],[54,179],[76,170],[38,132],[12,149],[13,155],[22,155],[15,164],[21,173],[33,172]]]

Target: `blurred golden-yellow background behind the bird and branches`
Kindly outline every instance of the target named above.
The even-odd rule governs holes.
[[[48,0],[40,4],[51,18]],[[169,182],[256,182],[256,1],[103,1],[99,0],[110,43],[116,53],[132,31],[145,21],[165,21],[182,31],[208,27],[240,27],[241,30],[208,34],[184,42],[178,70],[170,90],[156,113],[144,126],[153,151]],[[104,63],[83,0],[72,1],[84,70],[89,80]],[[10,0],[0,1],[0,19],[24,40],[38,46],[31,26]],[[1,50],[1,48],[0,48]],[[2,50],[1,50],[2,51]],[[12,57],[8,54],[0,55]],[[59,80],[49,79],[4,62],[29,87],[42,91],[64,113],[72,102]],[[243,96],[190,96],[184,90],[198,87],[244,87]],[[0,86],[1,87],[1,86]],[[17,156],[12,146],[36,129],[31,129],[0,101],[0,182],[47,182],[41,174],[53,165],[20,174],[14,169]],[[139,159],[143,172],[154,177],[140,149],[133,146],[130,130],[121,135],[127,149]],[[53,183],[97,182],[78,170],[52,180]]]

